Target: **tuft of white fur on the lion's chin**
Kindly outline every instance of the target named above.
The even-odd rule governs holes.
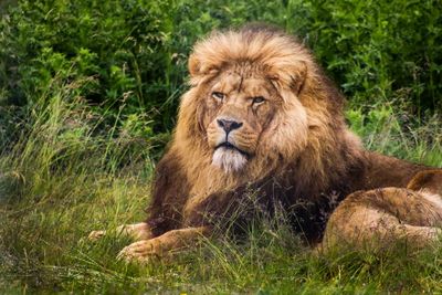
[[[220,147],[213,152],[212,165],[224,170],[225,173],[241,170],[248,159],[240,151]]]

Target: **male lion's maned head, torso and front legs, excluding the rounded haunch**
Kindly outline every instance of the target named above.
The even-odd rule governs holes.
[[[246,224],[248,207],[256,204],[270,214],[282,206],[316,243],[334,202],[357,190],[406,187],[428,169],[365,150],[345,123],[344,97],[309,51],[278,30],[214,32],[194,45],[189,72],[149,217],[119,228],[139,240],[122,259],[194,244],[232,214]]]

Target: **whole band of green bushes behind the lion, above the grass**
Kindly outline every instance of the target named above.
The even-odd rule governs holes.
[[[20,0],[2,14],[3,143],[41,96],[51,99],[54,78],[78,81],[71,98],[104,116],[103,130],[116,124],[145,138],[168,134],[193,42],[249,21],[297,34],[350,102],[392,102],[418,115],[442,107],[438,0]]]

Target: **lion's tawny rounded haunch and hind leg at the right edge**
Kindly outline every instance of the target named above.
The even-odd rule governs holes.
[[[387,249],[406,241],[421,249],[442,235],[442,170],[421,171],[407,188],[348,196],[332,213],[318,251]]]

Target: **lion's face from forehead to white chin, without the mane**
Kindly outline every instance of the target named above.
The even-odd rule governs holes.
[[[213,81],[206,98],[204,125],[213,165],[227,172],[241,170],[255,156],[278,97],[262,75],[227,71]]]

